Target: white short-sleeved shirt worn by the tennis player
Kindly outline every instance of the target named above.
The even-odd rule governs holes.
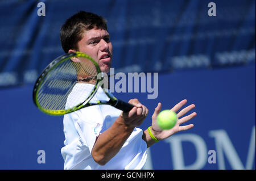
[[[77,95],[83,99],[81,92],[84,96],[86,92],[89,94],[88,86],[94,85],[77,83],[68,96],[66,107]],[[96,100],[109,100],[101,87],[90,102]],[[65,146],[61,148],[64,169],[142,169],[147,158],[147,145],[139,128],[134,128],[121,150],[104,166],[98,165],[91,155],[97,136],[111,127],[121,112],[109,105],[97,105],[64,115]]]

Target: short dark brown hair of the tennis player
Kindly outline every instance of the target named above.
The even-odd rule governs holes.
[[[83,33],[93,28],[108,30],[106,20],[102,16],[85,11],[80,11],[67,19],[60,30],[64,52],[68,53],[69,49],[77,50],[77,43],[82,39]]]

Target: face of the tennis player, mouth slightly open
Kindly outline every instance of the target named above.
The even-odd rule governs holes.
[[[86,31],[77,45],[80,52],[88,54],[98,63],[102,72],[109,72],[113,47],[108,31],[96,28]]]

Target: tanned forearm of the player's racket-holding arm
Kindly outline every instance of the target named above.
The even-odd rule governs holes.
[[[123,144],[133,132],[134,127],[124,124],[122,117],[118,117],[112,127],[101,133],[93,149],[93,159],[100,165],[105,165],[118,153]]]

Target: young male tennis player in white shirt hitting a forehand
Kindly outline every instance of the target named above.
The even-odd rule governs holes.
[[[101,71],[108,73],[110,70],[113,47],[106,21],[101,16],[80,11],[61,27],[60,39],[64,52],[84,52],[98,63]],[[86,94],[86,86],[90,85],[77,83],[67,104],[76,92]],[[93,99],[98,98],[107,99],[101,87]],[[138,99],[131,99],[129,103],[134,108],[127,113],[112,106],[101,105],[83,108],[64,116],[65,146],[61,149],[64,169],[142,169],[149,146],[193,127],[193,124],[180,124],[195,117],[195,112],[179,119],[174,128],[161,130],[156,124],[156,116],[161,110],[159,103],[152,115],[152,127],[143,132],[137,127],[147,117],[148,109]],[[187,100],[182,100],[172,110],[177,112],[185,103]],[[194,104],[185,107],[177,113],[177,117],[193,108]]]

